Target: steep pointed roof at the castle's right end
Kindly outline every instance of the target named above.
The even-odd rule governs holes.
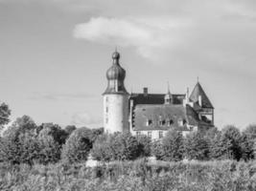
[[[202,108],[210,108],[210,109],[214,108],[210,99],[204,93],[204,91],[203,91],[201,85],[199,84],[199,82],[195,86],[195,88],[194,88],[194,90],[193,90],[193,92],[190,96],[190,100],[192,100],[193,102],[198,103],[198,96],[201,96],[201,103],[202,103],[201,107]]]

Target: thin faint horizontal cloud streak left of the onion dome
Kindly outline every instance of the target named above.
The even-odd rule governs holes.
[[[30,96],[30,99],[33,100],[67,100],[67,99],[84,99],[92,97],[92,95],[89,95],[87,93],[34,93],[33,96]]]

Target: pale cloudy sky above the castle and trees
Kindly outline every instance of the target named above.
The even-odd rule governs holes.
[[[12,117],[103,125],[117,47],[128,91],[192,92],[216,126],[256,122],[255,0],[0,0],[0,101]]]

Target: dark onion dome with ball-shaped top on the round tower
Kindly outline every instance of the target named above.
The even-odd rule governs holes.
[[[119,64],[120,53],[115,51],[112,54],[113,64],[106,71],[106,79],[108,81],[107,88],[105,90],[105,94],[126,94],[128,92],[124,85],[124,80],[126,78],[126,71]]]

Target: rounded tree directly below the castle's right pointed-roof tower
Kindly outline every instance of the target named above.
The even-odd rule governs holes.
[[[198,132],[193,132],[185,138],[184,149],[187,159],[209,159],[208,141]]]

